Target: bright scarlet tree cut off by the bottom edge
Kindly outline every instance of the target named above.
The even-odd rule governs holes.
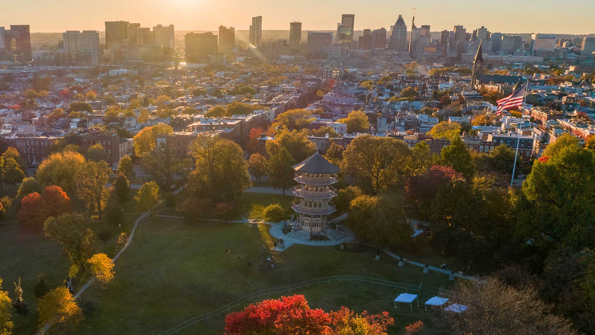
[[[247,334],[330,334],[330,316],[322,309],[310,309],[302,295],[252,303],[226,317],[227,335]]]

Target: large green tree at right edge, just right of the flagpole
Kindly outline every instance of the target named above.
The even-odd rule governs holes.
[[[558,141],[556,141],[558,142]],[[536,161],[522,187],[518,234],[578,251],[595,244],[593,151],[570,145]]]

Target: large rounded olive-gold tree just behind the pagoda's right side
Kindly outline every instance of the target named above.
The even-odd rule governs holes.
[[[399,185],[411,153],[405,142],[391,137],[359,136],[343,153],[341,170],[362,190],[376,194]]]

